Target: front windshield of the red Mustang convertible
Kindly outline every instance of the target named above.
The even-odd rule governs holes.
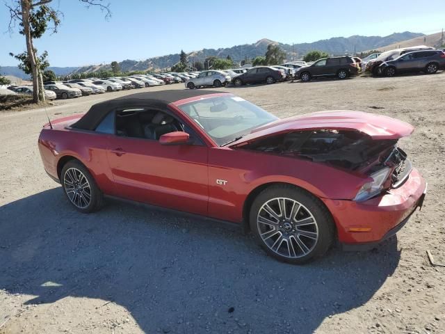
[[[259,106],[234,95],[204,98],[181,104],[179,109],[219,146],[278,119]]]

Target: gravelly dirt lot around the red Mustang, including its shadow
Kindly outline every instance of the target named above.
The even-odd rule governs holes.
[[[75,212],[42,168],[44,111],[1,113],[0,333],[445,333],[445,268],[426,257],[445,263],[444,79],[223,88],[281,117],[354,109],[416,127],[401,146],[429,183],[422,211],[378,250],[334,249],[304,267],[205,220],[122,202]],[[124,94],[48,111],[83,113]]]

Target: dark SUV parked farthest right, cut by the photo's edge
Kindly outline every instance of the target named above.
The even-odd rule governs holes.
[[[414,51],[403,54],[392,61],[380,64],[378,72],[387,77],[408,72],[434,74],[445,68],[445,52],[442,50]]]

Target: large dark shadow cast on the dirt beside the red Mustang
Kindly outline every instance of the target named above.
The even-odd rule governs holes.
[[[371,299],[400,258],[393,238],[374,252],[282,264],[210,221],[118,201],[80,214],[60,187],[0,216],[0,289],[36,296],[26,304],[113,301],[146,333],[312,333]]]

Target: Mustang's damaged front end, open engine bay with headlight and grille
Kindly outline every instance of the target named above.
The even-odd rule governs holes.
[[[240,143],[234,148],[279,154],[366,175],[354,200],[361,202],[403,184],[412,165],[398,139],[375,139],[357,130],[291,131]]]

